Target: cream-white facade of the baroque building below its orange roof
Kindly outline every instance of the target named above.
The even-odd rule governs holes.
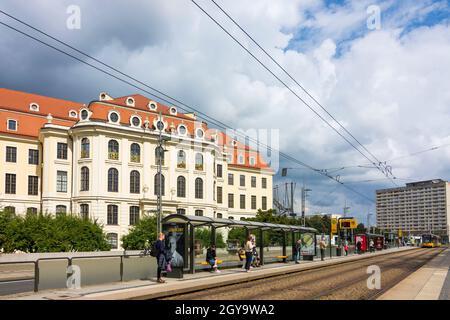
[[[95,105],[89,107],[84,109],[89,110],[91,116],[77,119],[71,125],[62,125],[47,117],[35,139],[0,133],[2,153],[6,153],[7,147],[17,149],[16,162],[6,162],[5,156],[1,159],[0,209],[9,207],[16,214],[25,214],[33,208],[34,212],[86,216],[103,225],[110,238],[118,240],[112,243],[118,243],[120,247],[120,239],[136,222],[136,215],[139,218],[156,212],[155,177],[158,166],[155,149],[159,131],[142,123],[134,126],[123,121],[111,123],[101,118],[106,114],[109,118],[112,110],[124,118],[125,111],[129,112],[130,108],[121,111],[122,106],[112,103],[111,106],[101,104],[100,107],[106,111],[100,107],[100,111],[95,110]],[[76,111],[81,114],[82,110]],[[132,119],[135,114],[130,114]],[[171,115],[160,118],[166,129]],[[144,116],[141,118],[145,119]],[[172,118],[175,119],[175,116]],[[195,125],[202,128],[203,124]],[[258,209],[272,208],[273,171],[270,168],[230,163],[233,158],[225,152],[227,148],[220,145],[218,139],[181,135],[173,128],[164,130],[162,135],[167,140],[162,166],[164,214],[180,212],[241,219],[254,217]],[[116,149],[111,152],[111,141],[118,145],[118,152]],[[39,150],[38,164],[28,164],[30,149]],[[139,150],[138,156],[136,150]],[[179,161],[181,150],[184,151],[185,161]],[[200,155],[202,166],[196,163]],[[110,175],[112,171],[117,175]],[[6,175],[12,173],[16,175],[16,188],[14,193],[6,194],[6,188],[10,187],[5,181]],[[131,183],[132,174],[137,177],[135,183]],[[232,185],[228,183],[229,174],[234,176]],[[39,182],[35,195],[29,194],[27,183],[28,176],[32,175],[37,176]],[[245,177],[245,186],[240,185],[241,175]],[[178,183],[183,178],[184,188]],[[252,181],[256,181],[256,185],[252,185]],[[234,196],[232,207],[228,202],[230,194]],[[245,197],[243,206],[241,196]]]

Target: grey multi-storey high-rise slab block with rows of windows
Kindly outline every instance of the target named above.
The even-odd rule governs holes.
[[[377,226],[410,234],[449,235],[450,183],[441,179],[376,191]]]

